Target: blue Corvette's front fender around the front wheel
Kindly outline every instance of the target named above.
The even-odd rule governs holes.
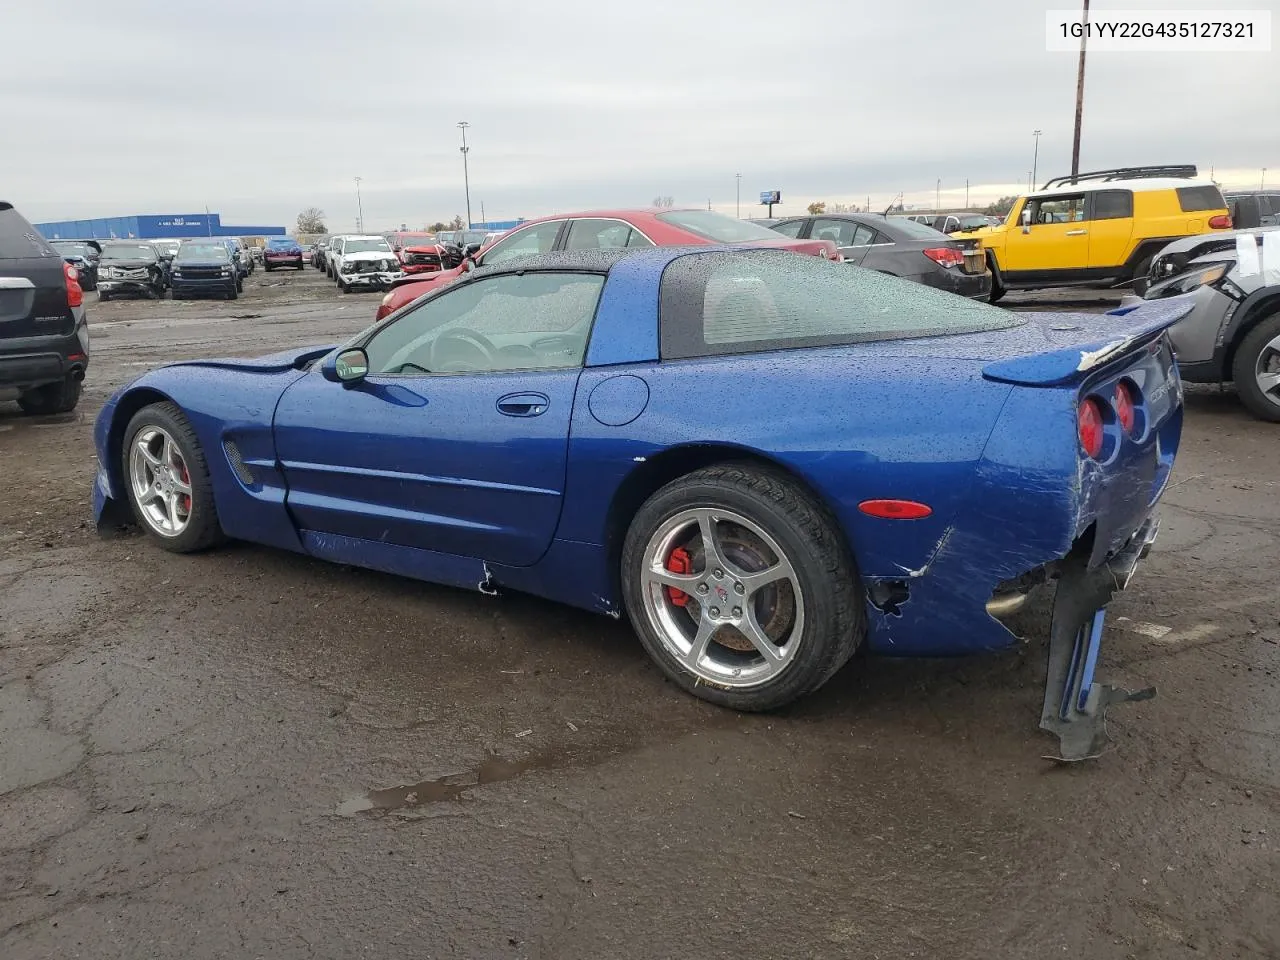
[[[127,504],[122,451],[129,419],[147,403],[169,399],[182,407],[200,439],[223,531],[237,539],[301,550],[284,508],[284,481],[275,467],[271,439],[271,417],[280,393],[301,375],[288,364],[260,361],[255,369],[215,361],[161,367],[129,384],[110,401],[109,419],[99,421],[100,431],[109,425],[105,435],[100,433],[99,454],[109,468],[113,499]],[[228,442],[238,448],[255,483],[236,476],[224,447]]]

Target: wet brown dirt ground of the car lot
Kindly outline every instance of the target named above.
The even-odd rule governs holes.
[[[308,269],[88,300],[79,410],[0,402],[0,957],[1280,956],[1280,428],[1230,393],[1188,397],[1161,539],[1111,605],[1101,676],[1158,696],[1064,768],[1043,632],[737,716],[625,623],[100,539],[111,390],[334,342],[378,297]]]

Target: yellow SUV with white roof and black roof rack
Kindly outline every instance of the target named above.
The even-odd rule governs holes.
[[[1151,257],[1166,243],[1231,229],[1217,184],[1194,166],[1126,166],[1059,177],[1018,198],[998,227],[966,232],[991,266],[991,302],[1007,289],[1078,283],[1146,292]]]

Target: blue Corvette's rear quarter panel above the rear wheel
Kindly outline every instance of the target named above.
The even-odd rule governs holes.
[[[614,426],[604,421],[622,417],[602,398],[618,393],[620,376],[643,381],[648,403]],[[840,520],[865,579],[909,579],[972,495],[1010,390],[974,364],[886,362],[874,347],[588,369],[557,536],[607,544],[611,502],[628,474],[675,448],[718,445],[724,458],[756,456],[803,479]],[[858,508],[881,498],[919,500],[932,515],[893,521]]]

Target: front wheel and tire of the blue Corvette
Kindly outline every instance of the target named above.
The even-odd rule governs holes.
[[[134,413],[120,458],[133,516],[164,549],[192,553],[225,539],[209,465],[177,403],[152,403]]]

